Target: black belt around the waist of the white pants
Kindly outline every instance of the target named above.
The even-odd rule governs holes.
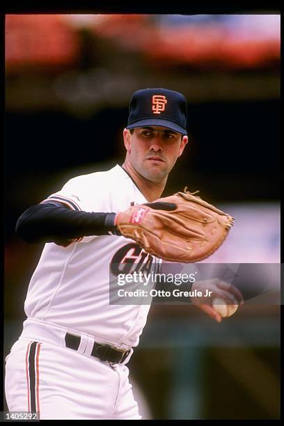
[[[80,336],[74,334],[65,334],[65,345],[70,349],[78,350],[81,342]],[[94,342],[92,352],[90,353],[95,358],[99,358],[100,361],[109,361],[109,363],[120,364],[125,361],[129,355],[131,349],[124,351],[123,349],[115,349],[109,345],[102,345],[101,343]]]

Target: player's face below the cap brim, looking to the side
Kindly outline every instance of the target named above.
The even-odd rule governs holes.
[[[128,159],[143,178],[161,182],[182,155],[187,136],[166,127],[136,127],[133,134],[125,129]]]

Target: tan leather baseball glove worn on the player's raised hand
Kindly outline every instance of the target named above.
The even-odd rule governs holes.
[[[186,187],[154,203],[129,207],[116,215],[116,226],[157,258],[171,262],[205,259],[223,243],[234,219],[195,196],[196,192]]]

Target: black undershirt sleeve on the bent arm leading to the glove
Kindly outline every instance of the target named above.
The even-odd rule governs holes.
[[[77,212],[51,201],[32,205],[19,216],[16,234],[25,242],[55,242],[67,246],[88,235],[120,235],[116,213]]]

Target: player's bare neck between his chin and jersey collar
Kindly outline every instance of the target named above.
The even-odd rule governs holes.
[[[166,179],[162,182],[151,182],[150,180],[143,178],[143,176],[140,175],[131,164],[129,164],[129,161],[126,160],[123,163],[123,168],[131,176],[132,180],[139,188],[139,191],[141,191],[148,202],[152,202],[161,197],[166,186]]]

